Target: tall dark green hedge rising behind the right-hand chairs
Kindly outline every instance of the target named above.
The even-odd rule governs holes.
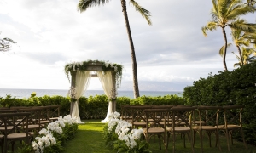
[[[256,144],[256,62],[234,71],[219,71],[184,88],[188,105],[245,105],[242,115],[247,143]],[[240,139],[240,138],[238,138]]]

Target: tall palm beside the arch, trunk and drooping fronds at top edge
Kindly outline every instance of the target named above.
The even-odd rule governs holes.
[[[80,13],[85,12],[87,8],[94,7],[96,5],[104,5],[105,3],[108,3],[109,0],[79,0],[78,4],[78,10]],[[143,15],[143,18],[145,18],[148,21],[148,25],[151,25],[151,20],[150,20],[150,12],[141,7],[137,2],[134,0],[130,0],[130,3],[135,7],[135,9]],[[125,17],[125,26],[130,42],[130,47],[131,47],[131,61],[132,61],[132,72],[133,72],[133,91],[134,91],[134,98],[137,99],[139,97],[139,89],[138,89],[138,82],[137,82],[137,61],[136,61],[136,55],[135,55],[135,49],[131,37],[131,29],[130,29],[130,24],[128,20],[128,14],[126,10],[126,1],[121,0],[121,6],[122,6],[122,12]]]

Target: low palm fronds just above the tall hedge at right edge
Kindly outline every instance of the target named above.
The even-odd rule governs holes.
[[[235,54],[234,52],[232,52]],[[236,55],[236,59],[238,59],[238,63],[234,64],[234,67],[236,66],[241,66],[241,65],[247,65],[248,63],[253,62],[253,60],[256,59],[256,56],[251,56],[252,54],[255,54],[255,49],[254,48],[241,48],[241,54],[242,54],[242,59]]]

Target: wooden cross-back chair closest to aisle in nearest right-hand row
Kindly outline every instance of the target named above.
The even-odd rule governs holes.
[[[160,124],[161,121],[167,121],[169,116],[169,109],[145,109],[146,114],[146,128],[144,128],[144,136],[146,141],[149,143],[149,140],[152,136],[157,135],[159,138],[159,147],[161,150],[161,138],[165,145],[167,152],[167,143],[166,143],[166,125]]]

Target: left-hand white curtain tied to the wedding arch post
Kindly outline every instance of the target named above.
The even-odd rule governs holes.
[[[77,71],[76,78],[75,78],[75,99],[77,101],[73,105],[73,111],[72,111],[72,117],[76,116],[79,123],[81,122],[80,116],[79,116],[79,98],[84,94],[86,89],[89,86],[90,83],[90,71]]]

